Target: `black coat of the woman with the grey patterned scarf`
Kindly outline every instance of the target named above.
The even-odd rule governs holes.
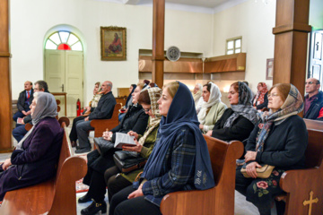
[[[223,140],[225,142],[230,141],[240,141],[244,142],[248,139],[249,134],[254,129],[255,125],[253,125],[249,119],[244,116],[238,116],[236,118],[231,127],[223,127],[225,121],[233,114],[233,110],[231,108],[227,108],[223,116],[215,123],[212,136]],[[245,141],[246,142],[246,141]]]

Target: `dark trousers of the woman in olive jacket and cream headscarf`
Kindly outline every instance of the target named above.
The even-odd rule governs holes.
[[[104,180],[107,182],[108,186],[109,202],[111,202],[112,196],[115,193],[118,193],[123,188],[132,185],[131,182],[129,182],[124,176],[121,176],[118,173],[120,173],[120,170],[117,168],[117,166],[108,168],[104,173]]]

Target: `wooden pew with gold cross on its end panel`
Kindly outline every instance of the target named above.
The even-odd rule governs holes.
[[[278,196],[276,200],[286,202],[285,215],[323,214],[323,122],[304,121],[309,132],[306,169],[286,171],[279,182],[287,194]]]

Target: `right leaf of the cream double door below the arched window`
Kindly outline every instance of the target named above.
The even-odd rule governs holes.
[[[76,101],[83,107],[83,52],[65,51],[65,91],[68,116],[76,116]]]

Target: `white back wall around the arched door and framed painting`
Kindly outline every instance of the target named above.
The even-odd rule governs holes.
[[[23,90],[23,82],[43,79],[44,40],[57,25],[72,26],[83,39],[86,103],[94,82],[112,81],[116,96],[117,88],[138,82],[138,50],[152,48],[152,7],[93,0],[11,0],[10,4],[13,99]],[[127,28],[127,61],[100,61],[100,26],[111,25]],[[167,10],[165,49],[177,46],[210,56],[211,26],[212,14]]]

